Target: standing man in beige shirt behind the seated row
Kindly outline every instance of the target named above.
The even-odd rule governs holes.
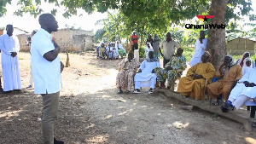
[[[175,49],[177,49],[179,46],[177,42],[172,40],[172,35],[170,32],[166,34],[166,40],[160,43],[159,45],[159,51],[160,55],[164,57],[163,65],[166,66],[166,63],[168,63],[172,59],[172,55],[174,55]],[[161,49],[164,49],[164,54],[161,52]]]

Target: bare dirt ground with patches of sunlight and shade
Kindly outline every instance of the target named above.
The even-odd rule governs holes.
[[[22,86],[30,73],[29,53],[20,53]],[[61,54],[65,64],[66,55]],[[120,60],[97,60],[92,54],[70,54],[62,72],[59,118],[55,137],[67,144],[241,144],[256,143],[255,129],[210,112],[179,107],[183,103],[155,94],[118,95],[115,88]],[[33,89],[0,96],[0,144],[42,143],[42,98]],[[213,107],[213,106],[212,106]]]

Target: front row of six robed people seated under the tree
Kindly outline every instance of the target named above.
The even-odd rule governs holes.
[[[253,68],[248,52],[236,63],[231,55],[225,55],[224,62],[216,72],[209,62],[211,54],[206,51],[201,56],[201,62],[190,67],[186,76],[180,78],[187,67],[182,54],[183,49],[177,49],[176,55],[161,68],[159,59],[154,58],[153,50],[149,50],[148,57],[141,65],[133,53],[129,52],[128,58],[119,63],[120,71],[116,78],[118,93],[123,93],[122,89],[131,93],[134,88],[133,93],[137,94],[141,93],[142,87],[149,87],[148,93],[153,94],[157,82],[161,89],[170,89],[172,82],[179,78],[177,92],[185,97],[204,101],[203,89],[207,89],[211,99],[217,99],[213,104],[222,105],[223,112],[228,112],[230,108],[239,109],[242,105],[256,106],[256,68]]]

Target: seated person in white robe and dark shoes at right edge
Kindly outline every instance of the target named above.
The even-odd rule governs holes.
[[[229,100],[221,107],[223,112],[241,106],[256,106],[256,68],[247,72],[231,90]]]

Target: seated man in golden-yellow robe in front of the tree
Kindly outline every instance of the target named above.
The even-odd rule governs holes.
[[[201,56],[201,62],[189,68],[186,77],[179,79],[177,92],[190,96],[195,100],[204,98],[205,94],[202,94],[202,91],[205,87],[206,79],[213,78],[215,75],[214,67],[208,62],[210,56],[210,53],[206,51]]]

